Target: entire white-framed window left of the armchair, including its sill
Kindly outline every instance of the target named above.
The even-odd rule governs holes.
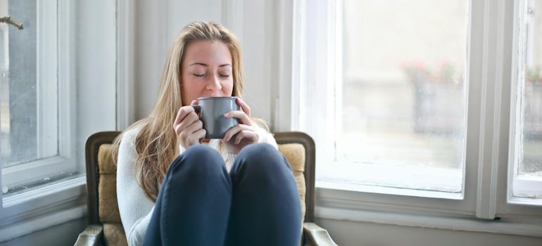
[[[0,22],[0,242],[84,215],[85,142],[117,122],[116,4],[0,0],[23,24]]]

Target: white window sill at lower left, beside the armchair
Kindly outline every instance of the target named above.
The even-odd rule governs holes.
[[[4,198],[0,216],[0,242],[6,242],[87,214],[86,177]]]

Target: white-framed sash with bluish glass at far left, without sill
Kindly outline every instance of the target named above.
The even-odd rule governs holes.
[[[1,25],[1,163],[4,198],[51,179],[80,174],[75,164],[68,117],[58,103],[56,1],[0,1],[2,16],[23,23],[23,30]],[[63,97],[63,98],[62,98]]]

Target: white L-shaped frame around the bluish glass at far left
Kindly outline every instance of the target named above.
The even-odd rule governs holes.
[[[59,66],[69,67],[68,64],[62,63],[66,60],[61,58],[61,63],[57,62],[57,53],[59,56],[68,56],[69,52],[66,48],[57,50],[58,37],[69,35],[63,33],[65,30],[57,30],[56,20],[63,16],[57,14],[57,1],[37,1],[37,156],[41,157],[54,150],[58,154],[2,169],[3,187],[20,186],[28,180],[58,174],[59,170],[69,173],[80,168],[75,163],[73,148],[75,118],[72,114],[75,98],[71,95],[74,94],[75,88],[72,80],[65,76],[69,74],[58,70]],[[58,103],[56,98],[50,99],[51,95],[58,95]],[[54,135],[53,139],[45,139],[46,133]],[[58,142],[58,147],[51,148],[51,140]],[[18,200],[16,197],[14,195],[4,198],[4,206],[13,205]]]

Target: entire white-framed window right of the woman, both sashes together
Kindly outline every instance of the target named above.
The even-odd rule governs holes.
[[[295,1],[292,126],[315,138],[320,211],[540,216],[534,2]]]

